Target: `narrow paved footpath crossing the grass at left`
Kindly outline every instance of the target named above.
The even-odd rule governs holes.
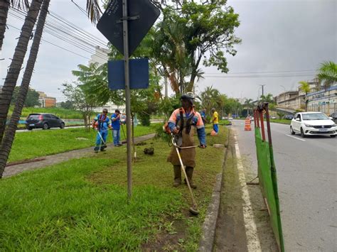
[[[149,140],[153,138],[154,136],[155,136],[155,133],[151,133],[149,135],[139,136],[137,138],[134,138],[134,141],[138,143],[141,141]],[[108,143],[107,146],[109,148],[114,148],[112,143]],[[70,150],[68,152],[58,153],[55,155],[46,155],[43,157],[38,157],[39,159],[43,159],[43,160],[38,160],[36,162],[22,163],[18,165],[7,166],[5,168],[3,177],[11,177],[25,170],[35,170],[38,168],[45,168],[48,165],[55,165],[57,163],[62,163],[62,162],[65,162],[73,158],[83,158],[83,157],[90,157],[94,155],[95,153],[93,151],[93,147],[84,148],[80,150]]]

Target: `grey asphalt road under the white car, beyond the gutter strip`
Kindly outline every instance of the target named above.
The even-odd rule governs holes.
[[[257,172],[254,131],[233,121],[242,156]],[[337,251],[337,138],[291,136],[272,124],[286,251]]]

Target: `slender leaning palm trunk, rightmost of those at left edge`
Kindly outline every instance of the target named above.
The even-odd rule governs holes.
[[[23,104],[25,103],[25,100],[26,100],[29,83],[31,82],[31,75],[33,75],[36,58],[38,57],[38,48],[41,42],[43,27],[46,22],[49,2],[50,0],[43,0],[43,5],[42,5],[40,16],[38,17],[38,24],[36,26],[36,32],[33,38],[33,44],[31,45],[31,51],[29,53],[26,70],[23,74],[23,80],[21,82],[21,87],[18,92],[18,99],[14,106],[14,111],[11,116],[11,121],[9,121],[9,126],[6,128],[6,133],[4,134],[4,138],[1,143],[0,177],[2,177],[4,173],[6,162],[9,158],[9,153],[11,152],[11,146],[14,141],[14,136],[16,133],[17,125],[18,125],[18,120],[20,119]]]

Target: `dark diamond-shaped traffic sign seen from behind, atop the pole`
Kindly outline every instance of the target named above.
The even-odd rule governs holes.
[[[128,0],[129,55],[134,53],[141,40],[159,17],[159,9],[149,0]],[[124,55],[122,0],[110,1],[97,23],[97,29]]]

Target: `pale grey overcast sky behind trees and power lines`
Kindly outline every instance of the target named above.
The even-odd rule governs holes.
[[[75,2],[85,8],[85,0]],[[205,68],[205,79],[197,83],[196,91],[213,85],[230,97],[256,99],[262,92],[261,84],[265,85],[265,93],[277,95],[296,89],[300,80],[312,80],[321,62],[337,62],[336,3],[336,0],[228,0],[240,14],[241,25],[236,35],[242,38],[242,43],[236,46],[235,57],[228,55],[228,75],[213,67]],[[60,15],[103,43],[107,42],[70,0],[52,0],[50,10],[54,15],[54,19],[48,17],[51,22]],[[15,13],[9,16],[8,23],[21,28],[23,21],[16,16]],[[0,59],[4,58],[0,60],[0,85],[19,35],[11,26],[5,33],[0,55]],[[87,64],[92,49],[82,50],[48,33],[43,38],[48,42],[41,44],[31,87],[61,101],[64,98],[58,89],[63,82],[75,80],[71,70],[78,64]]]

